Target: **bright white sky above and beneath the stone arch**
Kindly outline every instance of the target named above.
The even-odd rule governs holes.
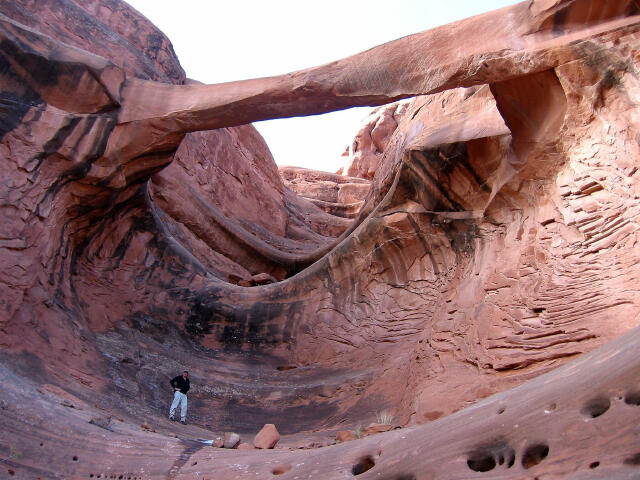
[[[322,65],[514,0],[127,0],[189,78],[220,83]],[[465,39],[461,38],[461,42]],[[255,123],[278,165],[335,172],[370,108]]]

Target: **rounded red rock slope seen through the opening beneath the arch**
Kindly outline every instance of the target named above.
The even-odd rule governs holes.
[[[150,197],[203,271],[232,283],[263,273],[282,280],[349,225],[285,188],[250,125],[188,135]]]

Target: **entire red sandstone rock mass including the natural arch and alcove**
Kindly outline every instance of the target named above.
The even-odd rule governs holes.
[[[3,475],[638,474],[634,2],[221,86],[121,2],[0,13]],[[244,125],[404,97],[363,178],[279,172]],[[193,441],[264,424],[280,451]]]

